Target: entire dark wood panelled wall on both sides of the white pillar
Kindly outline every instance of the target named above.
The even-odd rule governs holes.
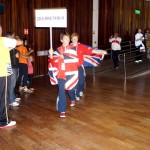
[[[53,48],[60,45],[59,34],[62,31],[78,32],[80,41],[92,44],[93,0],[0,0],[5,6],[4,14],[0,14],[3,35],[14,31],[23,37],[24,29],[29,29],[28,42],[35,50],[35,75],[47,74],[47,57],[37,57],[39,50],[48,50],[50,45],[49,28],[34,27],[34,9],[67,8],[67,28],[53,29]],[[135,15],[134,10],[141,10]],[[136,28],[150,28],[150,2],[144,0],[99,0],[99,46],[108,44],[113,32],[122,37],[126,32],[132,37]]]

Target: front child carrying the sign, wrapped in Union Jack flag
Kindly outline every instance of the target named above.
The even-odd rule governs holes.
[[[65,90],[68,91],[70,97],[70,106],[75,106],[75,88],[78,83],[78,58],[76,49],[69,45],[70,35],[68,33],[61,34],[60,41],[62,45],[54,53],[53,50],[49,51],[49,71],[55,74],[54,76],[50,75],[51,83],[58,84],[59,88],[57,98],[59,117],[65,118]]]

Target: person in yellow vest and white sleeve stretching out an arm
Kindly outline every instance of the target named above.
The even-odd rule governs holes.
[[[16,125],[15,121],[10,120],[8,113],[8,87],[10,86],[8,78],[11,72],[9,48],[15,48],[16,45],[22,44],[22,41],[1,36],[0,26],[0,128],[8,128]]]

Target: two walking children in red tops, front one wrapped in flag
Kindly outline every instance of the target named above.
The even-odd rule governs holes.
[[[62,33],[60,41],[62,45],[56,51],[49,50],[49,75],[52,84],[58,84],[58,97],[56,107],[60,118],[66,117],[66,94],[68,91],[70,106],[75,106],[83,96],[85,84],[84,55],[107,54],[103,50],[95,50],[78,42],[79,35]]]

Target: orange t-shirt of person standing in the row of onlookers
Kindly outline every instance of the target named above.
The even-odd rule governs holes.
[[[28,50],[25,46],[21,45],[17,47],[17,50],[20,52],[20,55],[26,55],[28,53]],[[24,57],[19,57],[19,63],[27,64],[28,59]]]

